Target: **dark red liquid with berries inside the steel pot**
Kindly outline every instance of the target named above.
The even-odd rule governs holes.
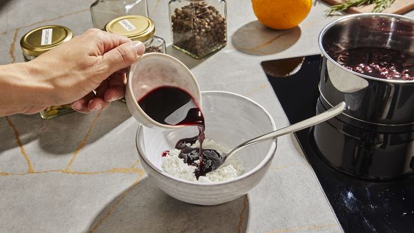
[[[413,80],[414,57],[406,52],[386,48],[353,48],[334,58],[355,72],[380,79]]]

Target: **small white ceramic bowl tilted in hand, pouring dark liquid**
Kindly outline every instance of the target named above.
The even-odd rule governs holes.
[[[181,128],[180,125],[164,125],[151,119],[138,104],[150,90],[172,86],[186,90],[201,105],[201,93],[197,80],[181,61],[167,54],[150,52],[130,66],[126,83],[126,105],[139,123],[149,128]]]

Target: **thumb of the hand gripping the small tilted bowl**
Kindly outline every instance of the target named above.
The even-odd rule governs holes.
[[[109,50],[102,56],[101,62],[106,69],[106,77],[110,74],[126,68],[145,52],[144,43],[141,41],[131,41],[123,43],[112,50]]]

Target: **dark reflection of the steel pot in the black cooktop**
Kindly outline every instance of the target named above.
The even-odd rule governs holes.
[[[317,114],[325,112],[317,101]],[[394,181],[414,173],[414,131],[395,126],[358,128],[333,118],[313,128],[316,154],[331,167],[357,178]]]

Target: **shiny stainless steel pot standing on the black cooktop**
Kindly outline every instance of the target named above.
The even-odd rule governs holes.
[[[352,14],[328,24],[319,34],[323,57],[319,82],[321,99],[331,106],[345,101],[348,109],[344,114],[357,121],[411,128],[414,125],[414,81],[369,77],[348,70],[333,59],[338,52],[367,47],[414,54],[414,19],[368,13]]]

